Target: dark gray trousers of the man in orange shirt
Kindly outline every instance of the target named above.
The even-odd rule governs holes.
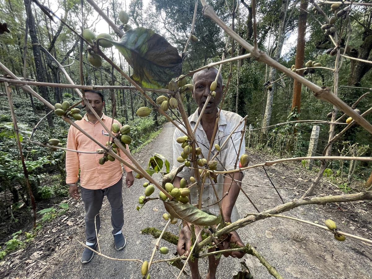
[[[122,197],[123,178],[114,185],[105,189],[86,189],[81,187],[81,199],[85,208],[85,234],[87,242],[97,241],[96,230],[94,228],[94,218],[96,219],[97,234],[101,225],[99,211],[102,207],[103,197],[107,199],[111,206],[112,234],[119,232],[124,225],[123,197]]]

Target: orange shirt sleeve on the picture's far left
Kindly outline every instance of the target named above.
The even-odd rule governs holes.
[[[67,135],[67,149],[77,150],[76,129],[71,125]],[[79,154],[66,151],[66,183],[71,184],[79,179]]]

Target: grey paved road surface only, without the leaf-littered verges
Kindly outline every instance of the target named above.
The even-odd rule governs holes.
[[[144,150],[135,155],[135,158],[146,166],[148,158],[156,153],[164,155],[172,163],[171,139],[174,127],[171,124],[164,126],[161,134]],[[275,167],[274,167],[275,168]],[[274,171],[274,170],[273,170]],[[155,176],[159,181],[160,176]],[[296,179],[296,177],[289,177]],[[280,178],[279,178],[280,179]],[[109,204],[105,205],[101,214],[100,246],[102,253],[110,257],[122,259],[148,260],[154,247],[154,239],[148,235],[140,234],[142,228],[163,228],[165,225],[161,215],[165,212],[159,201],[148,202],[139,212],[136,210],[138,196],[143,194],[142,180],[136,180],[130,189],[123,190],[124,199],[124,234],[127,245],[123,251],[115,251],[111,235]],[[251,169],[246,173],[244,182],[253,185],[270,185],[263,170]],[[244,186],[251,199],[255,201],[260,210],[271,208],[280,204],[278,195],[270,188]],[[293,191],[280,189],[280,194],[285,201],[295,198]],[[237,202],[241,217],[247,212],[254,212],[254,208],[243,194]],[[323,206],[307,206],[288,212],[287,215],[323,222],[326,215]],[[81,216],[80,218],[83,218]],[[84,240],[83,226],[77,226],[77,233]],[[169,231],[177,234],[178,225],[171,225]],[[284,278],[371,278],[371,262],[355,250],[355,242],[347,240],[339,243],[333,236],[315,227],[303,226],[301,223],[287,219],[269,218],[241,228],[238,233],[244,242],[249,241],[266,259],[275,266]],[[176,247],[163,241],[162,245],[168,246],[171,253]],[[60,262],[49,267],[49,272],[43,278],[140,278],[140,266],[134,262],[119,262],[95,256],[91,263],[80,264],[82,248],[71,245],[67,250],[57,256]],[[58,252],[57,252],[58,253]],[[155,259],[166,256],[157,253]],[[253,256],[246,255],[248,266],[255,278],[271,278],[266,269]],[[206,261],[200,261],[201,275],[205,278]],[[189,273],[189,270],[186,269]],[[232,278],[240,270],[239,259],[225,259],[222,257],[218,268],[218,278]],[[151,268],[151,278],[176,278],[179,270],[166,263],[161,263]],[[190,274],[190,273],[189,273]],[[182,278],[189,278],[183,276]]]

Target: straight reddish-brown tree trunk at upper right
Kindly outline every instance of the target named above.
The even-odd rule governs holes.
[[[308,0],[301,0],[300,15],[298,17],[298,33],[297,33],[297,47],[296,47],[296,60],[295,68],[300,69],[304,65],[304,54],[305,54],[305,32],[306,32],[306,20],[307,20],[307,6]],[[301,10],[302,9],[302,10]],[[297,71],[297,74],[302,76],[303,70]],[[294,80],[293,84],[293,99],[292,99],[292,111],[297,108],[297,112],[300,112],[301,106],[301,88],[302,84],[298,80]],[[298,119],[298,118],[296,118]]]

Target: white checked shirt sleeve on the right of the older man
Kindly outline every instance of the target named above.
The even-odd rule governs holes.
[[[245,125],[245,122],[243,121],[243,123],[240,124],[239,127],[235,130],[234,134],[232,134],[228,142],[228,151],[227,151],[226,162],[225,162],[226,170],[234,170],[237,156],[240,158],[241,155],[246,153],[246,141],[245,141],[245,135],[244,135],[243,142],[241,143],[241,147],[240,147],[240,152],[237,155],[239,151],[240,140],[241,140],[241,132],[244,129],[244,125]],[[235,125],[233,128],[235,128]],[[237,167],[239,167],[239,161],[237,163]]]

